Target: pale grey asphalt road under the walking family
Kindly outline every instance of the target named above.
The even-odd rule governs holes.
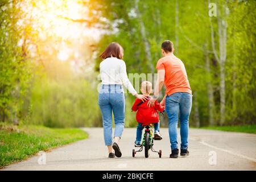
[[[119,143],[122,157],[109,159],[102,128],[83,130],[89,133],[89,139],[46,152],[46,160],[40,160],[40,164],[42,156],[35,155],[3,170],[256,170],[255,134],[190,129],[191,155],[171,159],[168,129],[162,128],[164,138],[154,144],[155,150],[163,151],[162,158],[150,152],[146,159],[144,152],[132,157],[136,129],[126,128]]]

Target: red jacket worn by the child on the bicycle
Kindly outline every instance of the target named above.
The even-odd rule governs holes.
[[[150,97],[148,97],[148,100]],[[164,106],[161,106],[158,101],[155,101],[155,105],[150,107],[147,106],[147,102],[143,102],[138,98],[135,100],[133,107],[131,110],[137,111],[136,120],[139,123],[158,123],[159,122],[159,114],[158,111],[162,112],[164,110]],[[157,111],[158,110],[158,111]]]

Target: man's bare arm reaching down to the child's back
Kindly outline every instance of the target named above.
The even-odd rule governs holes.
[[[159,92],[162,90],[164,85],[164,76],[166,71],[164,69],[158,69],[158,79],[156,80],[154,96],[148,101],[148,106],[154,106],[156,99],[159,97]]]

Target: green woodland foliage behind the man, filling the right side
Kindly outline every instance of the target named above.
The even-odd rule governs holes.
[[[176,2],[179,6],[176,7]],[[255,1],[229,1],[228,15],[224,16],[226,1],[214,1],[218,16],[212,17],[217,55],[220,54],[218,20],[228,24],[227,55],[225,61],[225,123],[224,125],[254,124],[256,121],[255,95]],[[120,43],[128,73],[152,73],[160,59],[160,44],[169,39],[174,42],[175,55],[183,60],[187,69],[192,92],[196,93],[193,103],[191,125],[200,121],[209,125],[209,110],[212,110],[213,125],[220,123],[220,63],[213,55],[208,1],[93,1],[99,14],[109,20],[108,34],[98,43],[98,52],[110,42]],[[176,14],[176,8],[178,13]],[[137,11],[138,9],[138,11]],[[219,14],[219,13],[222,14]],[[176,16],[179,24],[176,25]],[[221,22],[223,23],[223,22]],[[146,38],[143,39],[143,28]],[[104,24],[104,26],[106,26]],[[111,34],[112,32],[112,34]],[[144,42],[150,45],[148,57]],[[206,57],[209,57],[207,68]],[[96,62],[96,71],[100,59]],[[209,86],[212,87],[210,108]],[[129,104],[132,96],[127,97]],[[199,116],[196,115],[199,111]],[[126,126],[135,126],[134,116],[126,113]],[[167,126],[167,119],[162,122]]]

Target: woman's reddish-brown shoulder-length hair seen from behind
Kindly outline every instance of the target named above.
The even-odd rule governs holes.
[[[106,59],[108,57],[117,57],[118,59],[123,59],[123,48],[116,42],[112,42],[100,55],[101,59]]]

